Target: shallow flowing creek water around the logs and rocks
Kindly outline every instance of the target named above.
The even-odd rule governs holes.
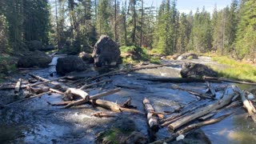
[[[40,75],[43,78],[50,78],[50,73],[54,72],[54,77],[58,77],[54,67],[56,60],[57,58],[53,59],[49,68],[32,70],[30,73]],[[142,100],[147,97],[156,111],[172,111],[179,106],[186,106],[191,102],[198,101],[198,99],[186,91],[170,89],[172,83],[147,82],[137,78],[156,76],[177,78],[179,77],[179,70],[179,67],[162,67],[115,75],[111,77],[113,82],[104,86],[103,90],[90,89],[89,94],[98,94],[113,89],[114,85],[133,86],[136,89],[122,88],[122,91],[110,94],[103,99],[122,103],[127,98],[132,98],[132,105],[143,111]],[[26,76],[26,78],[28,77]],[[204,83],[178,85],[200,92],[206,91],[206,84]],[[214,87],[223,85],[226,83],[213,83]],[[218,97],[222,93],[223,91],[219,91]],[[1,95],[1,97],[5,97],[5,95]],[[33,98],[0,110],[0,143],[94,143],[96,134],[102,130],[110,129],[114,123],[122,123],[126,119],[134,122],[136,129],[142,134],[148,134],[144,114],[121,114],[118,118],[94,118],[90,115],[107,110],[87,104],[66,110],[49,106],[47,102],[62,102],[62,95],[45,94],[41,98]],[[210,141],[212,143],[255,143],[256,126],[251,120],[246,120],[246,111],[242,107],[224,110],[215,117],[226,114],[228,111],[233,111],[234,114],[222,122],[202,127]],[[126,125],[131,124],[128,122]],[[162,128],[156,135],[157,139],[161,139],[170,136],[170,133],[166,128]]]

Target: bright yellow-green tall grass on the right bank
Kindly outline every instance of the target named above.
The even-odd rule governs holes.
[[[256,82],[256,66],[245,62],[237,62],[233,58],[225,56],[215,56],[212,59],[227,66],[225,69],[214,68],[214,70],[218,71],[220,77]]]

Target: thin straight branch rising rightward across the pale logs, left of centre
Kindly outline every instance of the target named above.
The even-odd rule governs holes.
[[[118,88],[118,89],[114,89],[114,90],[110,90],[110,91],[106,91],[104,93],[101,93],[101,94],[95,94],[95,95],[92,95],[92,96],[88,96],[87,98],[85,99],[79,99],[78,101],[74,101],[74,102],[70,102],[68,105],[66,105],[64,108],[70,108],[72,106],[78,106],[78,105],[82,105],[86,102],[89,102],[90,100],[94,100],[94,99],[98,99],[98,98],[102,98],[102,97],[105,97],[106,95],[110,95],[110,94],[114,94],[114,93],[117,93],[118,91],[120,91],[121,89]]]

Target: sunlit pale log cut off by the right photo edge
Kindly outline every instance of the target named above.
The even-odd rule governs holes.
[[[250,100],[248,100],[244,94],[244,92],[242,92],[242,90],[238,91],[241,98],[242,98],[242,103],[243,106],[246,108],[246,110],[248,111],[249,116],[253,119],[254,122],[256,122],[256,110],[254,108],[254,105],[250,102]]]

